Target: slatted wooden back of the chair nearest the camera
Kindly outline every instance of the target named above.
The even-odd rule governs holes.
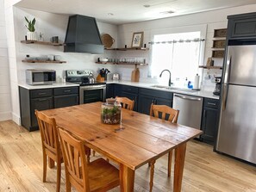
[[[64,162],[66,164],[66,177],[69,177],[72,185],[79,186],[82,189],[85,188],[84,191],[90,191],[84,143],[65,130],[62,130],[61,127],[58,130]]]

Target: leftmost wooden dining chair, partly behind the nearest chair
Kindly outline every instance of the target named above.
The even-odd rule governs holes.
[[[47,157],[48,166],[54,167],[54,163],[57,164],[57,187],[56,191],[60,189],[60,174],[61,163],[63,163],[62,153],[60,150],[59,136],[56,128],[56,121],[54,118],[49,118],[47,115],[35,110],[38,126],[41,133],[41,143],[43,152],[43,183],[46,182],[47,177]]]

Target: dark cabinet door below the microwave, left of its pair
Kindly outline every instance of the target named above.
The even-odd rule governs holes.
[[[31,108],[30,108],[30,113],[31,113],[31,127],[29,127],[29,131],[34,131],[38,129],[38,124],[37,124],[37,119],[36,116],[34,115],[34,110],[46,110],[53,108],[53,97],[42,97],[42,98],[36,98],[36,99],[31,99]]]

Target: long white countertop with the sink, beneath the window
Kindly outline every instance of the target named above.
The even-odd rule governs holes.
[[[215,96],[213,94],[213,91],[210,90],[199,90],[199,91],[181,91],[181,90],[167,90],[164,88],[156,88],[152,87],[152,83],[140,83],[140,82],[130,82],[130,81],[108,81],[107,84],[123,84],[123,85],[129,85],[129,86],[134,86],[134,87],[140,87],[140,88],[147,88],[147,89],[152,89],[152,90],[163,90],[163,91],[168,91],[168,92],[173,92],[173,93],[180,93],[180,94],[185,94],[185,95],[190,95],[190,96],[202,96],[202,97],[207,97],[211,99],[219,99],[220,96]]]

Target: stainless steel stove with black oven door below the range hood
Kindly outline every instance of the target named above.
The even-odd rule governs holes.
[[[105,102],[106,83],[97,82],[90,70],[66,70],[66,82],[79,84],[79,103]]]

